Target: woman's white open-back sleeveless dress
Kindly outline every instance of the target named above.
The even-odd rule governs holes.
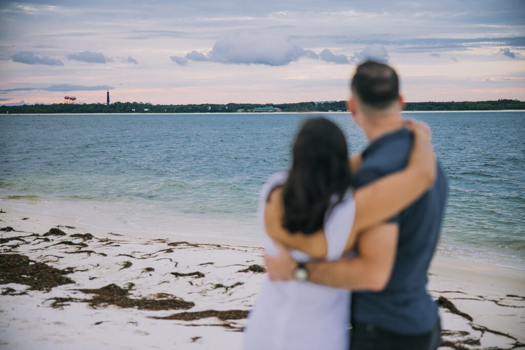
[[[271,190],[285,183],[286,173],[276,173],[262,187],[258,220],[264,227],[264,209]],[[355,202],[350,193],[335,205],[325,220],[327,260],[343,255],[355,217]],[[265,235],[265,250],[277,254],[272,240]],[[310,257],[291,250],[297,261]],[[293,350],[349,347],[350,292],[310,282],[270,281],[267,275],[253,310],[248,315],[243,349]]]

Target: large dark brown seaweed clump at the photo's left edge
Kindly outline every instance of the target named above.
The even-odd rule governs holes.
[[[71,269],[59,270],[22,254],[0,254],[0,284],[25,284],[30,290],[50,290],[62,284],[75,283],[65,276]]]

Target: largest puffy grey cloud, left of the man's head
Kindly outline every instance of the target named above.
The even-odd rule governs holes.
[[[285,66],[303,55],[302,47],[286,34],[235,30],[219,37],[208,57],[222,63]]]

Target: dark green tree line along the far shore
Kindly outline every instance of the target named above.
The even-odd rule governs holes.
[[[283,112],[328,112],[346,111],[345,101],[299,102],[280,104],[227,103],[227,104],[151,104],[142,102],[114,102],[90,104],[33,104],[0,106],[0,113],[235,113],[249,112],[256,107],[280,108]],[[525,110],[525,101],[497,100],[476,102],[408,102],[405,111],[486,111],[486,110]]]

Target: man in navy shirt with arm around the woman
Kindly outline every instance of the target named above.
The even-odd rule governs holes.
[[[403,128],[396,72],[374,61],[352,79],[348,109],[370,144],[354,175],[355,187],[405,167],[412,135]],[[427,270],[443,220],[447,185],[438,166],[435,184],[382,225],[362,232],[355,257],[338,261],[293,261],[286,249],[266,257],[272,280],[294,277],[350,289],[351,350],[434,350],[439,346],[437,305],[426,291]],[[359,213],[356,213],[359,215]]]

